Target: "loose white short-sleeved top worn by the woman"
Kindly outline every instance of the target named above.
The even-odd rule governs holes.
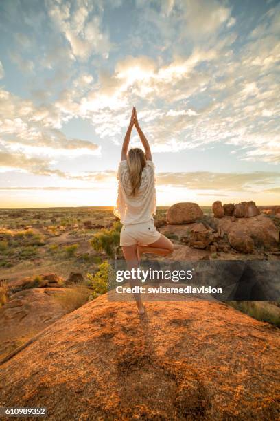
[[[121,224],[139,224],[148,222],[156,213],[156,188],[154,179],[154,162],[146,160],[143,168],[141,185],[135,197],[129,196],[131,185],[126,160],[119,163],[117,170],[118,193],[114,215]]]

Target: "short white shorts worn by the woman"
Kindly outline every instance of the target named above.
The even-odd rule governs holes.
[[[121,228],[120,246],[132,246],[141,244],[148,246],[161,237],[161,233],[156,230],[154,222],[141,222],[140,224],[127,224]]]

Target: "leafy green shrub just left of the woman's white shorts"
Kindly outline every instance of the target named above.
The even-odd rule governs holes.
[[[114,222],[113,228],[108,230],[107,228],[102,228],[98,233],[93,235],[93,238],[90,241],[91,246],[93,246],[96,251],[104,251],[108,257],[117,258],[117,252],[119,249],[119,237],[121,233],[121,223]]]

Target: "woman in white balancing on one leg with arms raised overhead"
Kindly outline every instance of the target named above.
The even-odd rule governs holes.
[[[128,144],[132,127],[135,125],[145,149],[131,148]],[[148,140],[137,120],[135,107],[132,109],[130,123],[121,149],[121,162],[117,171],[118,195],[114,215],[121,224],[120,246],[128,270],[138,268],[142,253],[154,253],[166,256],[174,246],[170,239],[159,233],[154,226],[152,215],[156,213],[156,191],[154,180],[154,163]],[[131,285],[135,285],[130,280]],[[140,294],[134,294],[139,314],[145,309]]]

